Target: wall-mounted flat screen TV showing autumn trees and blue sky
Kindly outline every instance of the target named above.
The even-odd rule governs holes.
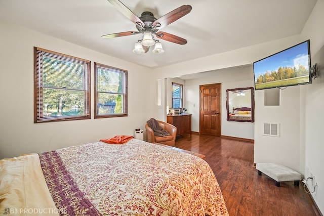
[[[253,63],[255,90],[311,83],[309,40]]]

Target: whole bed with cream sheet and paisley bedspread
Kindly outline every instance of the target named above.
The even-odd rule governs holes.
[[[228,215],[205,160],[137,139],[27,154],[0,166],[5,214]]]

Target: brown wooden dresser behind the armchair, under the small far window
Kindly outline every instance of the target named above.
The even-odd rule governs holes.
[[[177,137],[186,133],[191,136],[191,114],[167,115],[167,122],[177,127]]]

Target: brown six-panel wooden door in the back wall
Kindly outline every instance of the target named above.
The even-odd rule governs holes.
[[[221,83],[200,85],[199,133],[221,135]]]

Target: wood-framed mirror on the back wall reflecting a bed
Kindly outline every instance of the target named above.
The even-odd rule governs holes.
[[[226,90],[227,121],[254,122],[254,88]]]

